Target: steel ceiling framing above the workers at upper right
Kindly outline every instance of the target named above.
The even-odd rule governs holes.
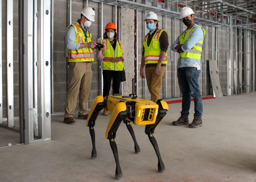
[[[196,13],[196,22],[211,26],[233,26],[256,34],[256,0],[92,0],[94,2],[154,11],[159,15],[179,18],[180,9],[190,6]],[[252,18],[250,18],[250,17]],[[231,21],[232,20],[232,21]],[[236,20],[236,21],[234,21]]]

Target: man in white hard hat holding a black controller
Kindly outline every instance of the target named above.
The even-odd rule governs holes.
[[[70,83],[67,92],[64,123],[75,124],[73,119],[79,92],[78,119],[86,120],[87,101],[92,83],[91,64],[94,61],[93,49],[97,45],[92,41],[89,27],[95,21],[95,11],[85,7],[81,18],[67,28],[68,66]]]

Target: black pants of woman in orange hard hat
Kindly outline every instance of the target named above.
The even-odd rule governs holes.
[[[123,71],[103,70],[103,97],[109,95],[111,80],[113,78],[113,94],[119,94]]]

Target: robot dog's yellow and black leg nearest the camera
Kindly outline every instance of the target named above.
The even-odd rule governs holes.
[[[118,151],[117,151],[117,146],[115,142],[116,138],[116,131],[118,127],[120,126],[120,123],[122,120],[126,118],[126,105],[124,102],[119,102],[110,117],[110,120],[108,122],[108,127],[106,130],[106,139],[109,139],[110,147],[113,151],[115,161],[116,161],[116,179],[121,179],[123,174],[122,170],[119,164],[119,158],[118,158]]]

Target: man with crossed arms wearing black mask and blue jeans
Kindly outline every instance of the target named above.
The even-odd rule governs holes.
[[[191,96],[194,98],[194,120],[188,126],[196,128],[203,126],[203,103],[199,88],[199,76],[201,72],[200,58],[202,54],[205,30],[194,22],[195,12],[184,7],[180,10],[180,18],[187,29],[180,33],[177,40],[172,43],[171,49],[179,53],[178,57],[178,82],[182,94],[182,110],[180,118],[173,121],[175,126],[187,125]]]

